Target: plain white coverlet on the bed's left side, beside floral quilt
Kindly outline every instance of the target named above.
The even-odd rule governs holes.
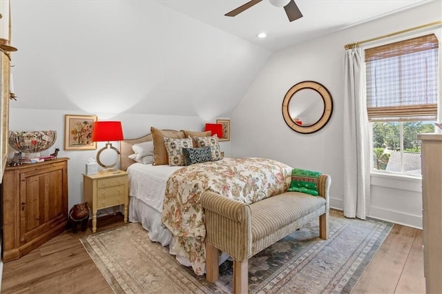
[[[131,164],[129,173],[129,196],[135,197],[161,213],[167,179],[182,166],[153,166],[152,164]]]

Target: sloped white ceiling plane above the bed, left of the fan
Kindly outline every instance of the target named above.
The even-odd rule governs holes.
[[[11,108],[229,117],[271,55],[161,1],[11,1]]]

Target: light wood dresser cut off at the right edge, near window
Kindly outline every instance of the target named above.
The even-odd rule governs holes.
[[[421,134],[423,262],[427,293],[442,293],[442,134]]]

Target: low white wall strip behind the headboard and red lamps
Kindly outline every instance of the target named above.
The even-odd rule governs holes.
[[[59,157],[69,157],[68,161],[68,204],[69,208],[82,202],[83,176],[86,161],[95,159],[97,151],[105,142],[97,144],[97,150],[64,150],[64,115],[98,115],[102,120],[122,121],[125,139],[135,139],[151,133],[151,126],[162,129],[203,130],[205,121],[200,117],[171,115],[115,115],[112,113],[85,113],[70,110],[10,109],[10,130],[57,130],[57,141],[41,155],[53,153],[59,148]],[[229,156],[230,141],[220,142],[222,151]],[[13,153],[13,149],[10,148]],[[11,155],[12,155],[11,153]]]

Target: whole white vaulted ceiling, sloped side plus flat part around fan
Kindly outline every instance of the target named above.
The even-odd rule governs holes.
[[[12,0],[11,107],[229,117],[276,50],[422,1],[244,2]]]

